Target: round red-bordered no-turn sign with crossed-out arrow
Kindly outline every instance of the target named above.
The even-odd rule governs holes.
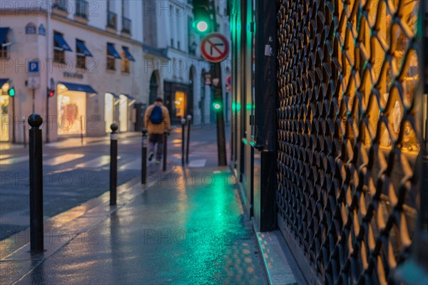
[[[229,54],[228,39],[221,33],[210,33],[200,43],[203,58],[213,63],[224,61]]]

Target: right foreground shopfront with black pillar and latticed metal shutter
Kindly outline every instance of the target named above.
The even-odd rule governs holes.
[[[229,1],[230,166],[308,284],[427,281],[427,11]]]

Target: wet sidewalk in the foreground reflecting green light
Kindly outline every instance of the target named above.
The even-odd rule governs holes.
[[[46,222],[44,254],[1,244],[1,284],[266,284],[227,167],[158,175]],[[108,193],[107,193],[108,194]],[[18,242],[19,240],[18,239]]]

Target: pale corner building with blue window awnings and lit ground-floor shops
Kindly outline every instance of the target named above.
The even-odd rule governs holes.
[[[134,104],[148,101],[151,73],[143,72],[141,1],[0,5],[1,140],[22,142],[31,113],[45,118],[49,140],[105,135],[113,121],[121,132],[135,129]],[[12,86],[14,98],[7,96]],[[51,98],[48,89],[55,90]]]

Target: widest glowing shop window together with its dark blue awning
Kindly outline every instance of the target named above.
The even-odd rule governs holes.
[[[58,135],[85,135],[87,96],[96,95],[96,90],[65,82],[59,82],[57,90]]]

